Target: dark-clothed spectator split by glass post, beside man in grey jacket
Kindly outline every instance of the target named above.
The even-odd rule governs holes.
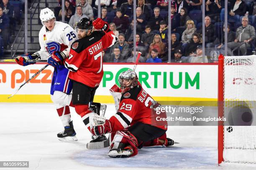
[[[230,25],[228,25],[228,42],[234,42],[236,39],[236,33],[230,30]],[[224,50],[224,43],[225,43],[225,25],[223,25],[223,32],[220,38],[216,38],[214,41],[215,48],[218,50]]]

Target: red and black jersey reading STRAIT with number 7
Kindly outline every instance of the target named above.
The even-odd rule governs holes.
[[[91,35],[72,43],[65,67],[70,70],[69,79],[96,87],[103,77],[102,50],[117,41],[115,34],[94,31]]]

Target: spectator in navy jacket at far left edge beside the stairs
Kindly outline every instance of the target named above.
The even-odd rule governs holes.
[[[5,13],[3,13],[3,8],[0,7],[0,35],[3,37],[4,48],[6,49],[9,45],[9,27],[10,27],[10,20]]]

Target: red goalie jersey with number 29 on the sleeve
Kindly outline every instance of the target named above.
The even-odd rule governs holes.
[[[109,119],[112,132],[123,130],[136,122],[143,122],[167,130],[166,121],[156,122],[158,115],[156,115],[154,106],[157,105],[138,83],[136,87],[122,94],[118,112]],[[165,112],[160,117],[166,117]]]

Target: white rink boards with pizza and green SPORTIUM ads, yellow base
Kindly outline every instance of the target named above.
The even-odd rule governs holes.
[[[22,67],[0,64],[0,102],[51,102],[50,86],[53,67],[47,67],[24,85],[16,95],[7,99],[44,64]],[[113,103],[109,89],[118,83],[121,72],[133,69],[133,64],[103,64],[104,75],[95,94],[95,101]],[[205,101],[217,100],[218,65],[199,64],[139,64],[136,68],[143,88],[155,100]]]

